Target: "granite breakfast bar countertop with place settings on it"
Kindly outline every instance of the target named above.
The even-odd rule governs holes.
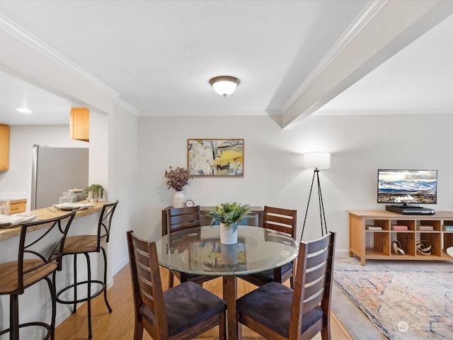
[[[79,201],[80,203],[88,203],[86,200]],[[92,207],[88,207],[84,210],[77,210],[76,215],[74,216],[74,219],[88,216],[88,215],[93,215],[96,214],[97,212],[101,212],[103,205],[106,203],[111,203],[107,201],[100,201],[98,203],[92,203]],[[18,214],[13,214],[13,215],[37,215],[36,220],[48,220],[53,217],[58,217],[62,215],[67,215],[69,211],[64,211],[64,210],[59,210],[57,208],[53,207],[48,207],[48,208],[42,208],[42,209],[37,209],[37,210],[30,210],[28,212],[19,212]],[[17,225],[15,227],[8,227],[8,228],[1,228],[0,227],[0,241],[3,241],[4,239],[11,239],[11,237],[16,237],[21,234],[21,225]],[[37,229],[42,229],[47,227],[47,225],[40,225],[39,227],[37,226],[33,230]]]

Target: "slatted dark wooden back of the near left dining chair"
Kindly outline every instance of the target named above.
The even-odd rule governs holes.
[[[168,326],[164,305],[159,261],[156,244],[139,239],[132,231],[127,232],[130,272],[132,277],[132,293],[134,295],[135,315],[145,304],[154,313],[155,324],[152,325],[151,337],[168,339]],[[150,331],[148,329],[148,331]],[[158,335],[160,334],[160,335]]]

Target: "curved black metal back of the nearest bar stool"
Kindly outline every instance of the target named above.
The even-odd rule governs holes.
[[[75,211],[59,217],[37,220],[22,225],[18,252],[19,294],[22,294],[23,289],[26,288],[24,286],[24,282],[26,284],[27,281],[25,276],[28,276],[28,281],[30,281],[34,273],[37,273],[38,276],[38,272],[45,273],[46,267],[51,270],[56,265],[58,270],[61,269],[64,241],[74,215],[76,215]],[[64,222],[66,222],[66,225],[64,225]],[[39,227],[42,225],[46,225],[45,229]],[[40,230],[34,233],[33,230],[37,229]],[[25,265],[24,262],[27,264]],[[33,280],[31,281],[33,282]]]

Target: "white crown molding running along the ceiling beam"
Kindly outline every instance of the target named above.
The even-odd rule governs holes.
[[[374,16],[381,11],[381,9],[387,4],[389,0],[374,0],[374,1],[369,1],[369,3],[365,6],[365,8],[362,9],[362,11],[359,13],[359,15],[355,18],[352,23],[350,23],[350,26],[346,28],[345,32],[343,32],[342,35],[340,35],[340,38],[333,44],[333,46],[328,50],[326,55],[321,59],[321,61],[316,64],[314,69],[310,72],[308,77],[304,79],[302,84],[299,86],[299,88],[294,92],[294,94],[289,98],[285,106],[282,108],[282,112],[286,112],[290,106],[294,103],[294,101],[299,98],[299,96],[302,96],[304,91],[312,84],[320,75],[321,73],[328,67],[328,65],[333,62],[333,60],[340,55],[340,52],[342,52],[346,46],[349,45],[349,43],[352,41],[352,39],[355,38],[357,34],[360,33],[360,31],[367,26],[369,21],[374,18]]]

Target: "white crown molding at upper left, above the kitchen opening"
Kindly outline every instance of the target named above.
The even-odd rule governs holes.
[[[7,33],[13,35],[14,38],[21,40],[21,42],[32,47],[33,50],[36,50],[45,57],[64,67],[69,72],[72,72],[77,77],[84,79],[84,81],[88,82],[88,84],[91,84],[96,89],[102,91],[104,94],[107,94],[110,98],[114,98],[118,105],[122,106],[127,111],[131,111],[132,113],[138,112],[136,108],[133,108],[132,106],[130,106],[130,104],[127,104],[118,98],[120,96],[119,92],[115,91],[110,86],[103,83],[96,77],[93,77],[93,75],[86,72],[84,69],[79,67],[79,65],[72,62],[67,57],[64,57],[64,55],[62,55],[60,52],[50,47],[50,45],[47,45],[38,37],[35,37],[35,35],[28,32],[28,30],[25,30],[25,28],[19,26],[17,23],[12,21],[10,18],[5,16],[1,12],[0,12],[0,28],[6,31]]]

